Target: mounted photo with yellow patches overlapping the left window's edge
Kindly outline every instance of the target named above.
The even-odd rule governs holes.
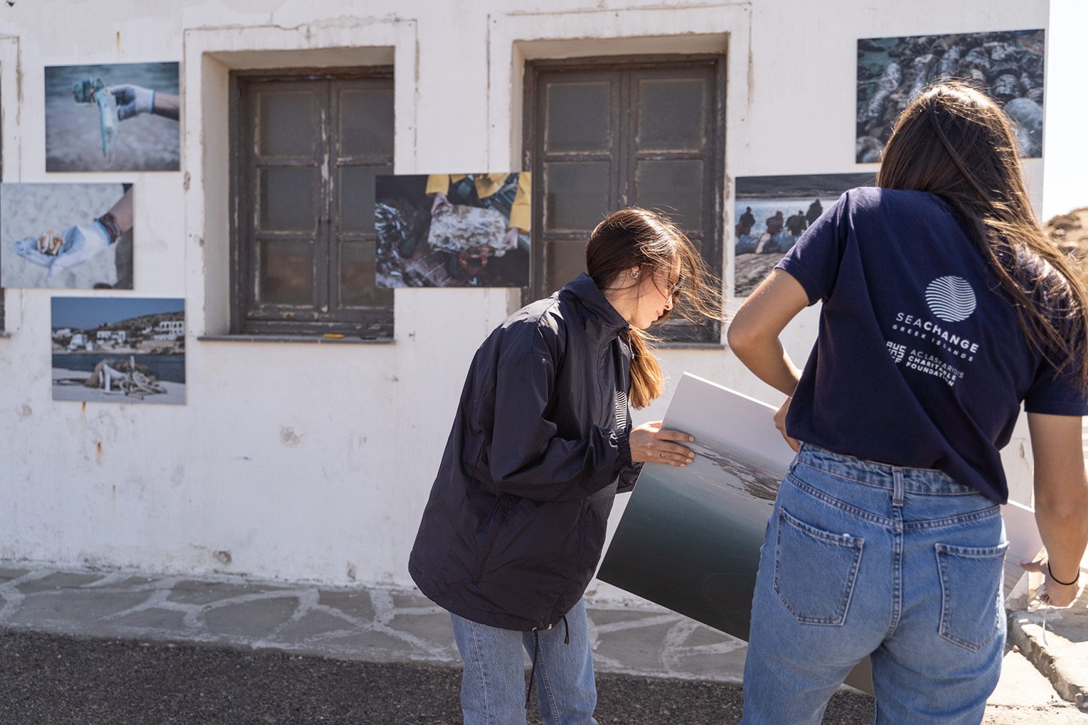
[[[379,176],[379,287],[529,285],[529,172]]]

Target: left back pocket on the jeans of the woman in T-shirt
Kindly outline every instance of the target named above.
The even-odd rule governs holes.
[[[865,539],[831,534],[778,511],[775,592],[798,622],[842,625]]]

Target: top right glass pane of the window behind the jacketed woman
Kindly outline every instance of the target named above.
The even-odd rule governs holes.
[[[639,149],[692,151],[703,148],[703,82],[639,82]]]

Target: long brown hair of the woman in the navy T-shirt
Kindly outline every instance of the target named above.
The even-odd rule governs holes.
[[[966,222],[1029,343],[1088,389],[1088,284],[1039,225],[1004,112],[957,82],[925,89],[900,115],[877,186],[929,191]]]

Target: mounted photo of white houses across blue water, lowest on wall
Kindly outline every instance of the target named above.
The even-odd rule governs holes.
[[[185,300],[54,297],[53,400],[185,404]]]

